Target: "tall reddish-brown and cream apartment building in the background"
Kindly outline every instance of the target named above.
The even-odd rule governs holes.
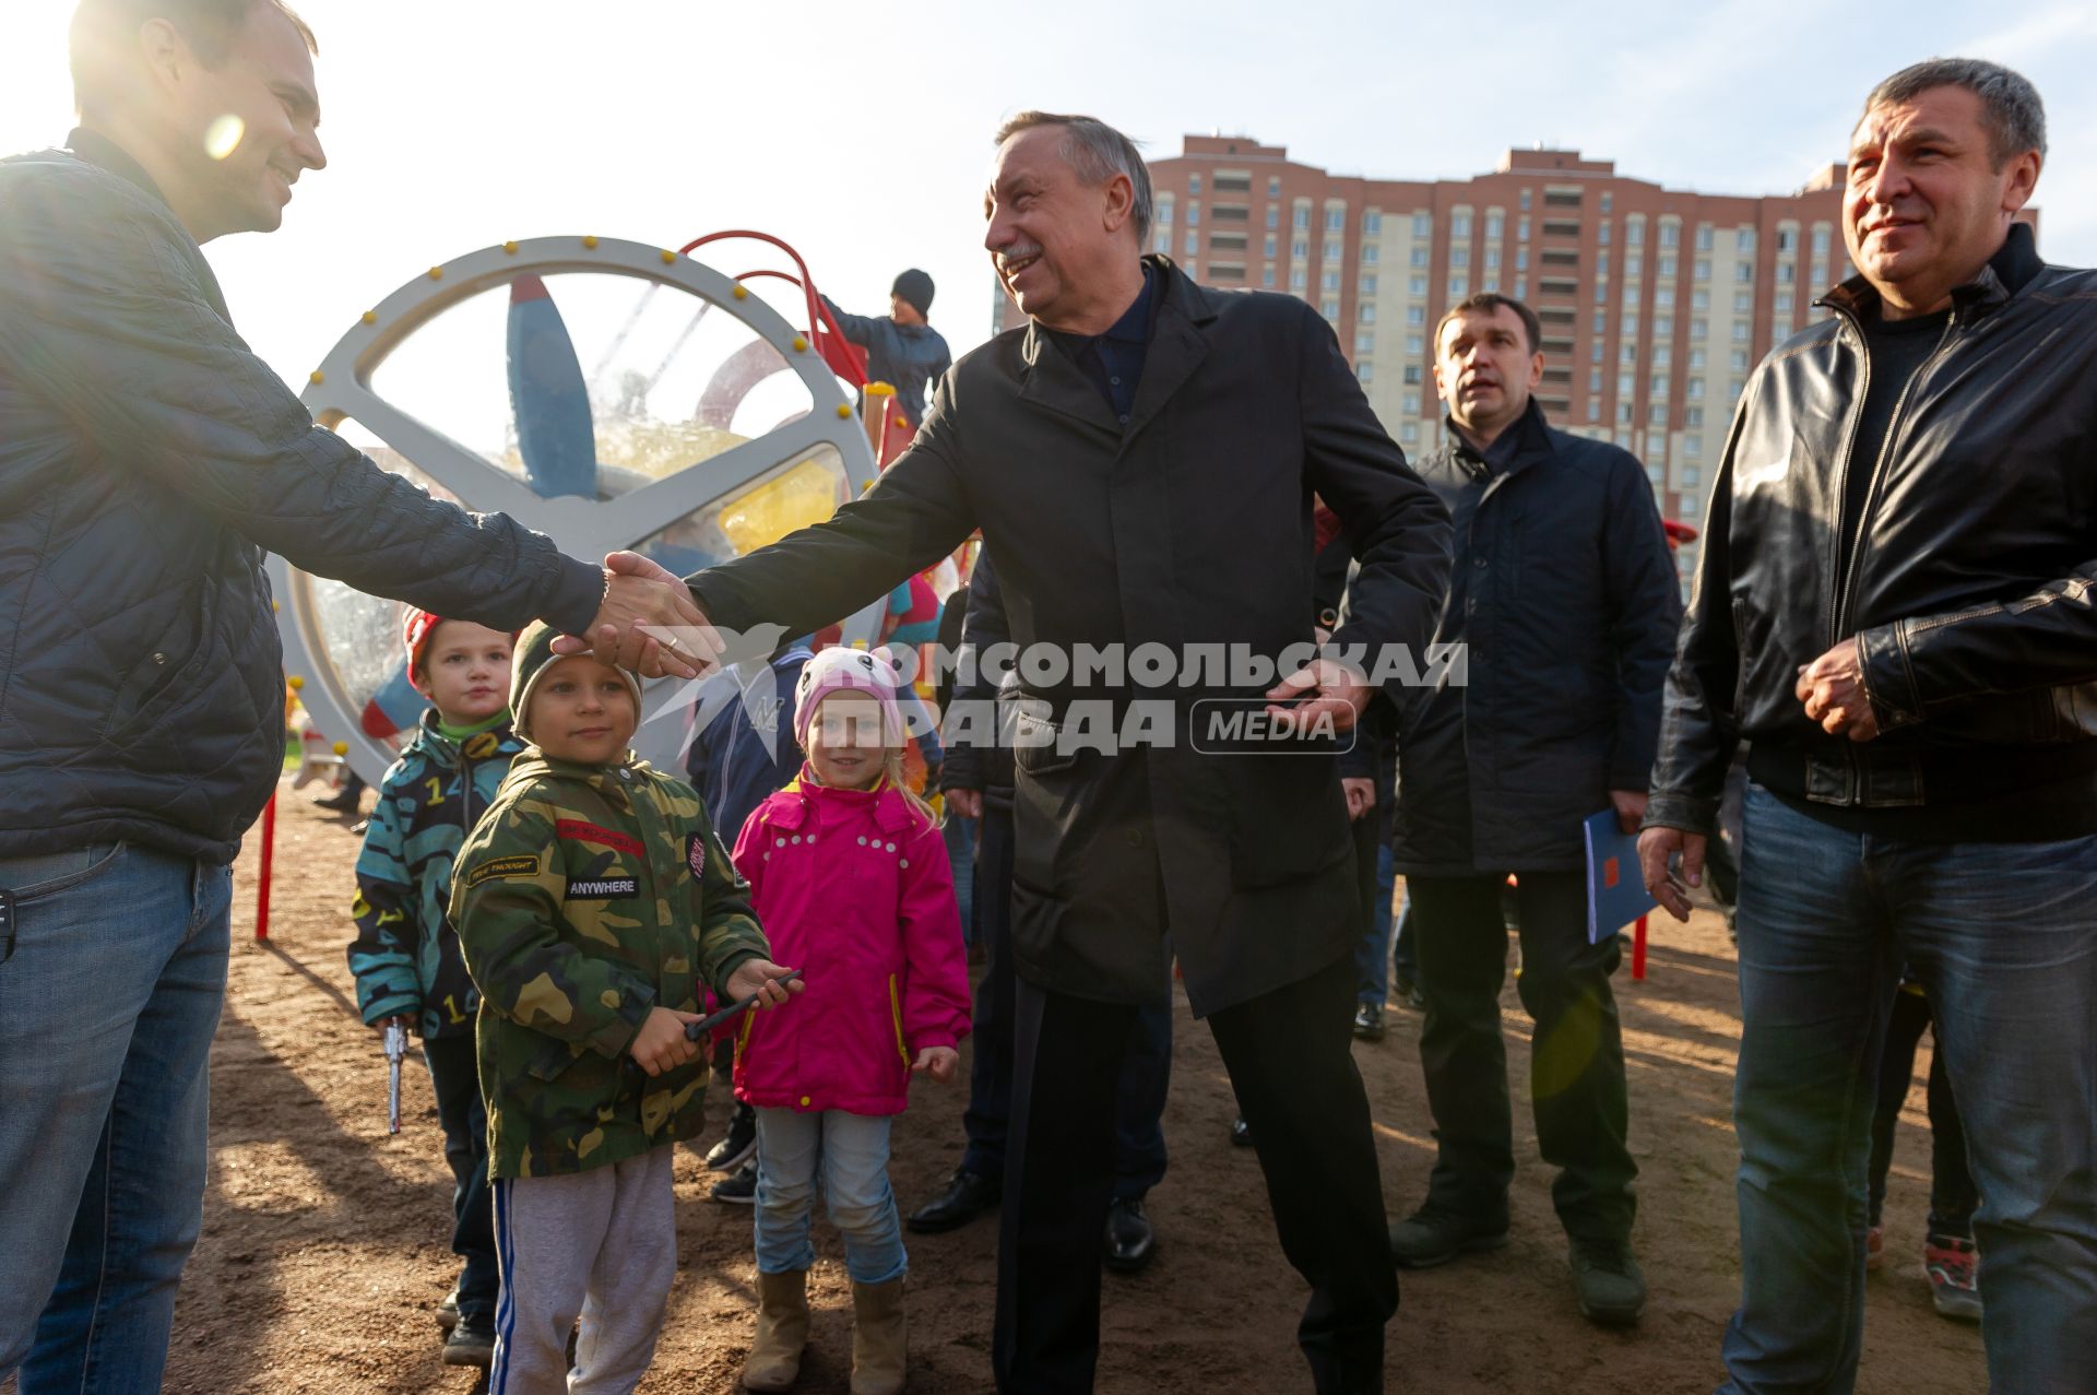
[[[1323,310],[1407,453],[1443,436],[1428,338],[1472,292],[1543,321],[1550,420],[1646,462],[1661,512],[1701,527],[1749,369],[1852,275],[1843,166],[1778,197],[1661,189],[1579,151],[1508,151],[1468,180],[1327,174],[1250,136],[1151,162],[1151,245],[1197,281]],[[996,296],[998,327],[1019,323]],[[1694,545],[1682,554],[1684,575]]]

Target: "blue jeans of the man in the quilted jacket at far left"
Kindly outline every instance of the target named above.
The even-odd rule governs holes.
[[[128,843],[0,858],[0,1380],[159,1389],[203,1219],[233,871]]]

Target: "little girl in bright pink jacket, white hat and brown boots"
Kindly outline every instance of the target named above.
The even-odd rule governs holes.
[[[784,1391],[807,1343],[816,1179],[845,1236],[851,1391],[904,1389],[904,1269],[889,1189],[889,1118],[910,1076],[954,1078],[969,969],[937,820],[902,782],[904,720],[881,654],[826,648],[795,686],[799,778],[736,839],[736,871],[780,963],[791,1013],[749,1013],[736,1097],[757,1110],[757,1340],[753,1391]]]

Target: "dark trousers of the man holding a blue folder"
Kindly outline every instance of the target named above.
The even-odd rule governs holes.
[[[1405,885],[1418,913],[1420,992],[1428,1003],[1420,1068],[1439,1143],[1428,1198],[1501,1221],[1514,1179],[1508,1049],[1499,1034],[1506,877],[1409,877]],[[1516,988],[1535,1022],[1529,1082],[1537,1145],[1558,1168],[1552,1202],[1575,1240],[1629,1240],[1638,1164],[1625,1147],[1623,1030],[1608,988],[1617,938],[1587,944],[1581,873],[1520,873],[1518,896]]]

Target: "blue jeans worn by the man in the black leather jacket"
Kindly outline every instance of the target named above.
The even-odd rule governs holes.
[[[1917,843],[1747,791],[1741,1311],[1726,1395],[1856,1385],[1881,1043],[1902,963],[1965,1116],[1996,1391],[2097,1391],[2097,837]]]

